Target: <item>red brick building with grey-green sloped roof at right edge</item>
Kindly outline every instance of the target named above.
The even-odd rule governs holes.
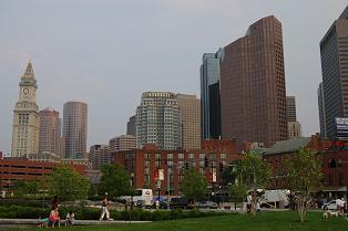
[[[319,135],[278,141],[268,148],[264,158],[272,165],[273,177],[269,188],[285,188],[284,160],[300,148],[319,151],[323,161],[323,192],[325,197],[347,197],[348,143],[320,139]],[[319,190],[319,189],[318,189]]]

